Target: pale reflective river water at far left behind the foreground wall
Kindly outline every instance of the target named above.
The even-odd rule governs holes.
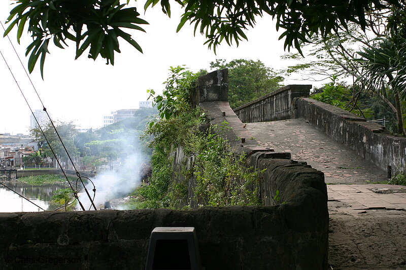
[[[2,182],[19,194],[45,210],[54,210],[50,204],[53,192],[60,188],[67,188],[63,184],[29,185],[20,182]],[[38,212],[37,206],[15,194],[10,189],[0,185],[0,212]]]

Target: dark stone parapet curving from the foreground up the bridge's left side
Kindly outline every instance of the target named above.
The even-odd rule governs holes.
[[[206,97],[195,100],[212,125],[229,123],[232,129],[222,136],[232,142],[232,151],[247,154],[247,166],[260,172],[264,206],[1,213],[0,268],[141,270],[154,227],[193,226],[207,270],[326,270],[323,173],[291,161],[289,153],[259,147],[223,100],[226,73],[219,72],[199,79],[199,93]],[[181,170],[187,166],[183,160],[191,158],[178,149],[174,166]]]

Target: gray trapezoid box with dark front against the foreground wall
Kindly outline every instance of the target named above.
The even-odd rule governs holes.
[[[201,270],[194,227],[156,227],[149,242],[146,270]]]

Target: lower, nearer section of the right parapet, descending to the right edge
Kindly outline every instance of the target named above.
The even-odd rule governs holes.
[[[391,135],[379,124],[314,99],[298,98],[294,109],[296,118],[306,119],[392,176],[406,173],[406,138]]]

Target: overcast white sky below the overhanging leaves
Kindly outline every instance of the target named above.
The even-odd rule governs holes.
[[[0,19],[5,22],[14,1],[0,2]],[[142,7],[143,1],[137,2]],[[177,5],[173,4],[173,9]],[[143,13],[143,9],[139,9]],[[269,17],[259,19],[254,29],[247,32],[248,42],[242,42],[238,48],[228,47],[224,43],[217,49],[217,55],[209,50],[204,37],[193,36],[193,27],[186,25],[179,33],[180,10],[172,11],[172,18],[167,18],[157,6],[148,10],[144,16],[150,25],[144,28],[147,33],[133,31],[133,38],[143,48],[144,54],[122,40],[121,54],[115,55],[115,65],[106,65],[103,58],[96,61],[86,58],[86,53],[75,59],[74,44],[61,50],[50,46],[51,54],[47,56],[44,68],[44,81],[41,79],[39,67],[30,74],[31,80],[53,119],[75,121],[81,128],[98,128],[102,117],[110,111],[125,108],[138,108],[138,102],[147,100],[146,90],[149,88],[160,92],[162,82],[168,74],[168,67],[186,65],[192,71],[200,68],[209,70],[210,62],[215,59],[253,59],[261,60],[275,70],[286,67],[280,59],[285,54],[283,41],[278,41],[275,25]],[[7,26],[6,26],[7,27]],[[33,110],[42,109],[33,89],[29,84],[21,64],[11,45],[3,38],[0,29],[0,51],[6,57],[17,82],[28,97]],[[25,48],[31,38],[25,31],[21,45],[16,42],[16,32],[9,34],[17,49],[24,66],[27,65]],[[51,43],[50,43],[51,44]],[[38,63],[39,66],[39,63]],[[312,84],[311,82],[286,81],[285,84]],[[28,134],[30,111],[10,71],[0,58],[0,133]]]

